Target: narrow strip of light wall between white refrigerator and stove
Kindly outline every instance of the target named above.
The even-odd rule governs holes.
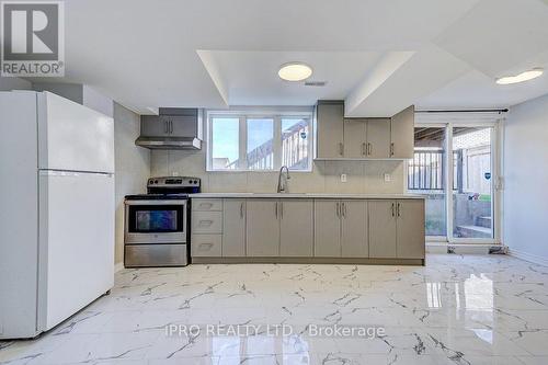
[[[114,103],[116,263],[124,261],[124,196],[145,193],[150,175],[150,151],[135,146],[139,121],[139,115]]]

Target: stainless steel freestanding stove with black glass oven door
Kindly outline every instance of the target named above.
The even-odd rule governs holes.
[[[151,178],[147,194],[125,197],[126,267],[189,264],[189,194],[199,191],[198,178]]]

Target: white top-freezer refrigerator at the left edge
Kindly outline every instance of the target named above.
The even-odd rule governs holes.
[[[0,339],[34,338],[114,284],[114,123],[0,92]]]

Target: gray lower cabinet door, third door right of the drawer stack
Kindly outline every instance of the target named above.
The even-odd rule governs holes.
[[[279,255],[311,256],[313,247],[313,202],[279,201]]]

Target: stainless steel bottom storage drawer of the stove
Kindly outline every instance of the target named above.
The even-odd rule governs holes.
[[[186,244],[126,244],[126,267],[185,266]]]

